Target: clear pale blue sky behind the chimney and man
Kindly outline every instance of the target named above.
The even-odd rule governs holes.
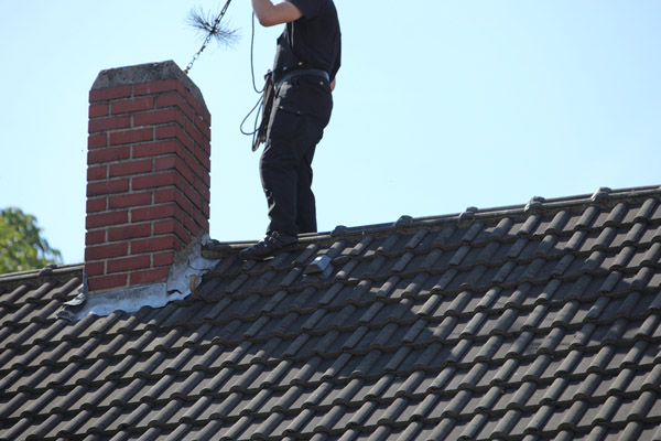
[[[165,60],[201,41],[185,22],[224,1],[0,4],[0,207],[35,215],[66,263],[83,261],[88,90],[98,73]],[[336,0],[343,67],[314,161],[319,230],[433,216],[532,196],[661,184],[661,2]],[[258,239],[259,154],[239,125],[250,79],[241,37],[209,46],[191,78],[212,112],[212,232]],[[258,80],[280,29],[256,33]]]

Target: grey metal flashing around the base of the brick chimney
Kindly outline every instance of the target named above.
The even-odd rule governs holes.
[[[203,238],[203,241],[208,238]],[[202,276],[218,265],[219,260],[202,257],[202,243],[182,252],[170,268],[166,281],[101,293],[89,293],[87,283],[78,295],[64,303],[57,312],[59,319],[77,322],[89,314],[107,316],[115,311],[136,312],[141,308],[163,308],[175,300],[191,295],[202,281]],[[84,279],[85,280],[85,279]]]

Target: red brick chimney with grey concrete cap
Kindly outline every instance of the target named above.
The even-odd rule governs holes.
[[[210,115],[174,62],[102,71],[89,93],[89,292],[167,279],[209,230]]]

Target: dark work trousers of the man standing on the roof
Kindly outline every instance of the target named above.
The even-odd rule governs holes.
[[[323,77],[305,75],[282,83],[275,93],[260,160],[268,232],[315,233],[312,160],[330,119],[330,86]]]

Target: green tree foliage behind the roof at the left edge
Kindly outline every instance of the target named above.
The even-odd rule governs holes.
[[[41,237],[36,218],[19,208],[0,211],[0,273],[61,263],[62,255]]]

